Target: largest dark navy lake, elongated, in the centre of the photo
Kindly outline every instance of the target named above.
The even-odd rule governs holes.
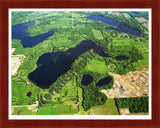
[[[95,43],[84,40],[76,47],[66,51],[50,52],[40,56],[37,60],[37,68],[29,73],[28,79],[40,88],[49,88],[58,77],[71,69],[75,59],[90,49],[94,49],[100,56],[102,53],[105,57],[109,56]]]

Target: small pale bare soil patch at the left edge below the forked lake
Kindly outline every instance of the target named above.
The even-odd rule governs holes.
[[[15,48],[12,48],[11,51],[12,53],[14,52]],[[20,64],[22,63],[24,58],[23,54],[19,55],[12,55],[11,56],[11,75],[15,75]]]

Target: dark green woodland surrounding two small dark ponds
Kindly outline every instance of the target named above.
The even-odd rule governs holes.
[[[89,74],[93,77],[93,82],[90,83],[88,86],[84,86],[81,84],[82,81],[82,76],[84,74]],[[111,82],[108,85],[103,85],[101,87],[97,87],[96,83],[102,79],[109,76],[108,74],[99,74],[98,72],[87,72],[86,70],[82,70],[78,74],[77,78],[77,83],[78,85],[82,88],[82,96],[83,96],[83,101],[82,101],[82,106],[85,111],[89,110],[93,106],[98,106],[98,105],[103,105],[105,104],[107,97],[105,94],[101,93],[101,89],[109,89],[113,87],[113,77]]]

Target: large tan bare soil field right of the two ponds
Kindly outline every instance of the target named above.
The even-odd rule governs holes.
[[[108,98],[141,97],[149,95],[149,73],[129,72],[126,75],[110,73],[114,77],[111,89],[103,89]]]

